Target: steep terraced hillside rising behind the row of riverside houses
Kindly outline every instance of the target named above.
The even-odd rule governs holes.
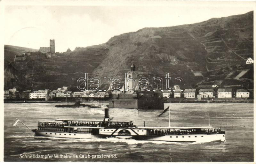
[[[8,49],[12,47],[6,46],[4,56],[11,61]],[[245,83],[252,88],[253,65],[245,61],[253,57],[253,12],[196,24],[143,28],[101,45],[56,54],[52,59],[27,59],[8,66],[5,62],[5,87],[28,88],[21,85],[24,82],[34,88],[75,86],[85,72],[89,77],[124,78],[133,61],[140,77],[164,79],[175,72],[174,78],[183,78],[184,88]]]

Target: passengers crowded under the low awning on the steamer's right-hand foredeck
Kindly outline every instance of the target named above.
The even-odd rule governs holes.
[[[159,129],[159,130],[154,130],[154,129],[151,129],[151,130],[149,130],[148,132],[149,132],[149,134],[151,134],[151,135],[165,135],[165,134],[176,134],[176,135],[183,135],[183,134],[205,134],[205,133],[217,133],[217,132],[219,132],[220,131],[220,129],[219,128],[217,128],[216,130],[215,129],[213,129],[213,130],[202,130],[202,131],[192,131],[192,130],[174,130],[174,131],[172,131],[172,130],[161,130],[161,129]]]

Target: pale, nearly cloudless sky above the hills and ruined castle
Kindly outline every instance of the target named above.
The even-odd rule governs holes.
[[[39,49],[49,47],[49,40],[55,39],[55,51],[65,52],[68,48],[102,44],[115,35],[144,27],[177,26],[244,14],[253,10],[252,3],[7,4],[4,44]]]

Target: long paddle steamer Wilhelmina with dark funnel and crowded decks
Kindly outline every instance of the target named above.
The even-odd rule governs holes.
[[[170,119],[170,113],[169,113]],[[21,122],[22,123],[22,122]],[[26,125],[25,125],[26,126]],[[35,136],[60,138],[132,138],[138,140],[172,142],[225,141],[225,130],[202,127],[137,127],[133,121],[114,121],[105,108],[103,120],[56,119],[39,121],[37,129],[30,129]]]

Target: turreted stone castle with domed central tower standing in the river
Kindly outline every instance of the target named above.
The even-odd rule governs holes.
[[[163,93],[159,86],[153,91],[147,84],[145,88],[139,87],[139,77],[132,63],[131,71],[125,76],[125,85],[120,90],[109,86],[109,108],[164,109]]]

